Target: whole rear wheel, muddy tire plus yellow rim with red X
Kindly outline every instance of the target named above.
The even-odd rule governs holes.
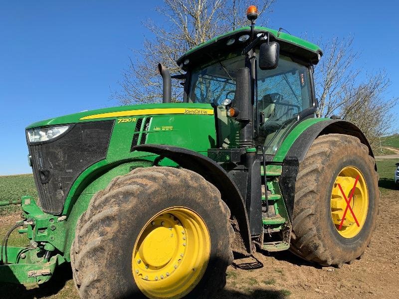
[[[347,207],[352,189],[353,213]],[[370,243],[379,197],[375,160],[367,146],[353,136],[318,137],[299,165],[291,252],[322,266],[353,262]]]

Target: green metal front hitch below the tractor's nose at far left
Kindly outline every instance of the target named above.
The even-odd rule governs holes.
[[[65,262],[63,252],[65,217],[44,213],[30,196],[21,200],[0,201],[0,205],[18,204],[24,220],[7,232],[0,249],[0,283],[32,286],[48,281],[57,265]],[[6,203],[6,204],[5,204]],[[10,234],[17,228],[30,239],[27,247],[9,247]]]

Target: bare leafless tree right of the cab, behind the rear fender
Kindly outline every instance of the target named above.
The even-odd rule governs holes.
[[[325,53],[315,72],[317,115],[339,115],[353,122],[376,147],[379,138],[390,133],[391,110],[398,103],[398,98],[386,97],[389,77],[384,70],[370,75],[354,67],[360,54],[353,50],[353,38],[320,44]]]

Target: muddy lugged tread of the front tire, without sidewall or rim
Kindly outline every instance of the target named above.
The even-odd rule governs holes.
[[[115,177],[105,189],[94,194],[88,209],[77,221],[71,246],[71,264],[74,283],[81,298],[123,297],[124,288],[120,286],[118,289],[113,284],[115,274],[109,269],[108,259],[112,258],[115,251],[111,252],[107,246],[116,246],[114,250],[119,249],[118,244],[114,244],[118,243],[118,229],[123,225],[129,225],[132,220],[127,211],[137,208],[138,205],[146,205],[139,200],[139,196],[149,194],[151,198],[151,194],[167,194],[173,189],[174,192],[182,194],[183,198],[185,194],[190,193],[184,186],[192,187],[193,184],[197,186],[198,194],[201,195],[197,197],[203,197],[208,206],[211,205],[215,211],[220,211],[217,213],[224,215],[223,219],[215,219],[219,231],[226,233],[225,237],[220,236],[219,244],[215,244],[216,248],[223,245],[217,249],[218,266],[215,264],[210,269],[220,269],[217,271],[225,273],[226,268],[233,262],[231,244],[235,232],[230,224],[230,210],[221,200],[218,189],[198,173],[188,169],[157,166],[136,168],[126,175]],[[214,276],[207,283],[207,287],[200,290],[200,297],[196,291],[196,298],[212,297],[214,292],[222,289],[225,284],[225,275]]]

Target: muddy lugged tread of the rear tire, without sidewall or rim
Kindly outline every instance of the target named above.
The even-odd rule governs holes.
[[[360,248],[360,251],[348,254],[333,250],[328,243],[329,241],[323,237],[323,233],[318,233],[322,230],[320,228],[320,214],[317,209],[319,206],[318,188],[323,184],[325,186],[323,171],[330,171],[329,169],[326,170],[326,164],[334,160],[335,155],[340,150],[350,152],[351,149],[358,151],[369,169],[375,169],[375,160],[369,155],[369,148],[362,144],[358,138],[341,134],[328,134],[318,137],[299,165],[290,251],[307,261],[319,263],[322,266],[340,266],[343,263],[353,261],[360,255],[360,251],[362,251],[361,253],[364,251],[364,248]],[[373,183],[378,185],[376,171],[372,173],[372,177],[376,180]],[[378,198],[376,201],[378,205]],[[372,231],[375,230],[375,227],[376,221],[372,225]],[[369,238],[371,238],[371,234]],[[367,240],[368,242],[369,240]]]

